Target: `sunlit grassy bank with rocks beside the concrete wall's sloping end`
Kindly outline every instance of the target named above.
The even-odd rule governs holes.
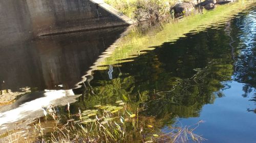
[[[196,9],[211,10],[216,4],[226,4],[235,0],[104,0],[124,15],[136,21],[169,21],[189,15]]]

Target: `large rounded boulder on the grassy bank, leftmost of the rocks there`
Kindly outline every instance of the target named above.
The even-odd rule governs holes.
[[[190,13],[191,11],[195,10],[195,5],[193,3],[184,2],[176,4],[173,8],[175,14],[183,14],[183,13]]]

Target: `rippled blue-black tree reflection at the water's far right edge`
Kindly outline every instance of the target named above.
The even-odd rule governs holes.
[[[240,54],[237,57],[237,71],[234,72],[234,80],[245,83],[243,97],[248,97],[248,94],[255,92],[256,88],[256,25],[252,24],[253,20],[255,20],[252,13],[243,13],[241,17],[234,21],[241,31],[239,34],[240,44],[238,46]],[[256,101],[255,99],[256,95],[254,94],[251,101]],[[256,112],[256,108],[248,109],[248,111]]]

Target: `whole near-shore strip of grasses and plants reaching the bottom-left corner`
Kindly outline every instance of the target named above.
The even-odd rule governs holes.
[[[44,109],[45,117],[37,119],[30,133],[22,130],[10,131],[1,135],[4,142],[201,142],[206,140],[194,130],[198,123],[185,126],[169,126],[169,132],[159,130],[159,124],[151,117],[139,115],[139,109],[122,100],[114,105],[95,105],[92,109],[80,110],[71,114],[69,104],[66,117],[59,116],[56,107]],[[49,120],[49,121],[47,121]],[[43,122],[49,122],[47,127]],[[27,137],[25,137],[27,136]],[[1,141],[1,140],[0,140]]]

